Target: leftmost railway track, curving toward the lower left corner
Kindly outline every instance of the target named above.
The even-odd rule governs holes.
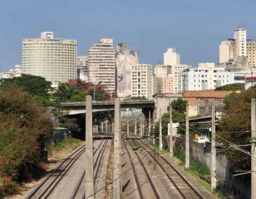
[[[94,141],[95,142],[95,141]],[[103,142],[103,141],[102,141]],[[102,142],[99,144],[101,145]],[[72,167],[76,160],[85,152],[85,144],[70,154],[45,180],[40,183],[27,199],[49,197],[51,192],[62,180],[67,171]],[[69,160],[69,161],[68,161]]]

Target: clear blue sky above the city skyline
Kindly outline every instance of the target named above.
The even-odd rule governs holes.
[[[182,64],[217,62],[219,43],[238,25],[256,39],[255,0],[4,0],[0,6],[0,71],[21,63],[22,38],[53,31],[77,39],[78,55],[100,38],[129,42],[140,62],[156,64],[168,47]]]

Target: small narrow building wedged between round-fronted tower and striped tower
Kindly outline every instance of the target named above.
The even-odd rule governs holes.
[[[77,56],[77,79],[88,82],[88,56]]]

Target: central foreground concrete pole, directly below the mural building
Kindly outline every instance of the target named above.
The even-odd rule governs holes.
[[[121,106],[119,99],[115,100],[115,127],[114,127],[114,174],[113,174],[113,199],[120,199],[120,132],[121,132]]]

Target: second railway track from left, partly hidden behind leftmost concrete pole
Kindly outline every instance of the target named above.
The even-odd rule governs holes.
[[[97,166],[97,169],[96,169],[96,172],[95,172],[95,175],[94,175],[94,179],[95,179],[94,184],[96,183],[96,178],[97,178],[97,176],[98,176],[98,171],[99,171],[99,168],[100,168],[100,163],[101,163],[101,160],[102,160],[102,157],[103,157],[105,148],[106,148],[106,146],[107,146],[107,143],[108,143],[108,140],[106,140],[106,141],[104,142],[103,147],[102,147],[102,149],[100,149],[100,152],[99,152],[99,154],[98,154],[98,156],[97,156],[97,158],[96,158],[96,161],[95,161],[95,163],[94,163],[94,169],[95,169],[96,166]],[[99,146],[99,147],[100,147],[100,146]],[[94,155],[96,154],[97,150],[98,150],[98,148],[94,151]],[[71,199],[75,199],[75,198],[76,198],[77,193],[78,193],[78,190],[80,189],[81,184],[82,184],[82,182],[83,182],[84,176],[85,176],[85,171],[84,171],[83,174],[81,175],[80,180],[79,180],[78,184],[76,185],[75,191],[73,192],[73,195],[72,195]],[[85,193],[84,193],[82,199],[84,199],[84,198],[85,198]]]

